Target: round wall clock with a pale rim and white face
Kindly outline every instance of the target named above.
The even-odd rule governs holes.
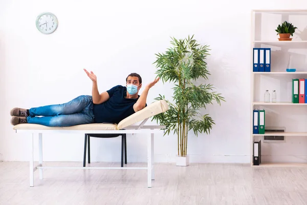
[[[55,31],[58,25],[57,18],[52,13],[42,13],[36,18],[36,28],[43,34],[50,34]]]

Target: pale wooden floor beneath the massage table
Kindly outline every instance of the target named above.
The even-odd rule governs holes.
[[[28,162],[0,162],[0,204],[307,204],[306,168],[156,163],[155,172],[156,180],[147,188],[146,170],[46,169],[43,180],[35,172],[30,188]]]

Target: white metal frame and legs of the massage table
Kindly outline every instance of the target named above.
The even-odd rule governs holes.
[[[148,119],[148,118],[147,118]],[[151,180],[155,180],[154,169],[154,136],[155,133],[163,133],[165,126],[143,126],[147,121],[145,119],[138,126],[129,126],[125,130],[16,130],[16,133],[29,134],[30,140],[30,187],[34,187],[34,172],[39,170],[39,179],[43,179],[43,169],[60,168],[60,169],[125,169],[125,170],[147,170],[147,185],[151,188]],[[42,166],[42,134],[148,134],[147,136],[147,167],[43,167]],[[34,136],[38,134],[38,165],[34,166]],[[150,134],[150,135],[149,135]]]

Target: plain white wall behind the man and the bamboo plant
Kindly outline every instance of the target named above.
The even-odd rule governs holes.
[[[238,4],[240,6],[238,6]],[[130,72],[143,84],[155,78],[155,53],[170,46],[170,36],[195,34],[210,45],[209,80],[227,102],[208,105],[216,125],[210,135],[189,135],[191,162],[250,162],[251,9],[306,8],[305,1],[0,1],[0,160],[28,160],[28,138],[10,124],[13,107],[65,103],[91,94],[83,68],[98,76],[99,91],[124,85]],[[50,35],[35,27],[49,11],[59,26]],[[238,49],[242,47],[242,49]],[[162,81],[148,94],[171,97]],[[154,122],[150,122],[154,124]],[[82,135],[46,135],[46,161],[81,161]],[[157,162],[173,162],[177,137],[157,135]],[[128,136],[128,161],[146,161],[146,138]],[[37,147],[35,149],[37,151]],[[119,161],[120,138],[92,139],[92,161]]]

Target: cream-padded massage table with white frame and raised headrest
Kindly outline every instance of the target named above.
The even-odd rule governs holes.
[[[16,133],[22,133],[30,137],[30,187],[34,187],[34,172],[39,170],[39,179],[43,178],[43,169],[126,169],[147,170],[147,186],[151,187],[151,180],[155,179],[154,170],[154,136],[155,133],[163,133],[163,125],[144,125],[152,116],[166,112],[168,105],[165,100],[158,100],[144,109],[130,115],[119,122],[119,124],[93,123],[70,127],[47,127],[38,124],[18,124],[13,127]],[[134,125],[137,122],[139,125]],[[42,136],[44,133],[52,134],[147,134],[147,167],[44,167],[42,166]],[[38,165],[34,166],[33,142],[34,136],[38,135]]]

